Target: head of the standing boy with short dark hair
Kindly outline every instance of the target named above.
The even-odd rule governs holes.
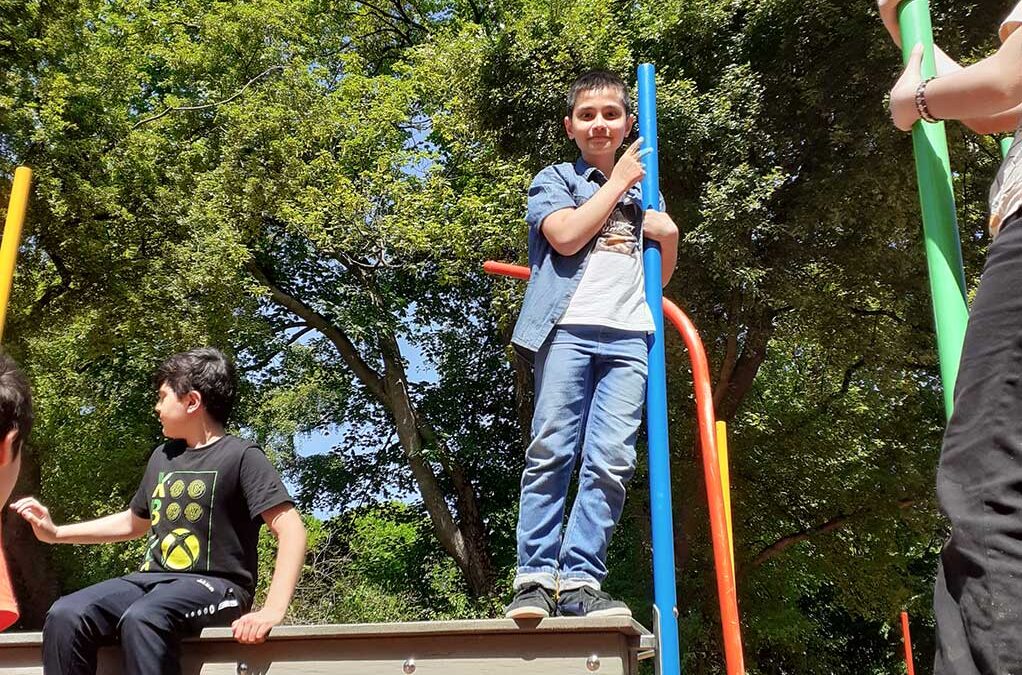
[[[568,89],[564,130],[588,161],[613,155],[635,121],[628,85],[613,73],[590,71]]]

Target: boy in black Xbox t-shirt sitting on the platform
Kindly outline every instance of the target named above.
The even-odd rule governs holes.
[[[115,637],[128,675],[180,673],[182,637],[230,624],[239,642],[260,642],[283,620],[294,592],[305,527],[263,451],[224,431],[237,393],[232,364],[215,349],[176,354],[159,367],[155,386],[170,440],[153,451],[129,508],[58,527],[32,497],[11,505],[49,543],[125,541],[148,532],[139,572],[50,608],[46,675],[93,675],[97,647]],[[280,545],[266,605],[248,612],[263,523]]]

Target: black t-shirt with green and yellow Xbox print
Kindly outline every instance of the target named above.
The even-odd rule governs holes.
[[[253,592],[261,513],[291,501],[253,443],[168,441],[152,452],[131,500],[131,510],[151,523],[141,571],[210,574]]]

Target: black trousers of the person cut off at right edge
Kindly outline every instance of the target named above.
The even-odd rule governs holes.
[[[937,472],[935,675],[1022,675],[1022,222],[991,244]]]

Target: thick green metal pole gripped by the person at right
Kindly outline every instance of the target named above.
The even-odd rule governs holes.
[[[902,61],[908,61],[913,47],[922,43],[923,77],[934,75],[936,70],[929,2],[907,0],[901,3],[898,7],[898,22],[901,27]],[[912,130],[912,145],[916,155],[919,201],[923,211],[923,234],[930,270],[940,380],[944,388],[944,411],[950,417],[955,379],[958,377],[959,360],[962,357],[965,326],[969,320],[969,306],[965,295],[962,244],[955,217],[955,193],[951,189],[950,162],[947,158],[947,137],[944,135],[943,123],[917,122]]]

